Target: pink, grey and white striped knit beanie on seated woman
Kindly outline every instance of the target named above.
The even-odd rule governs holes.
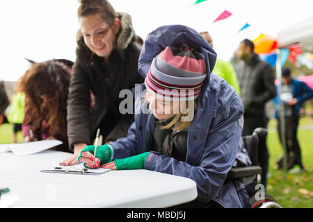
[[[198,51],[185,44],[167,46],[152,60],[145,86],[150,93],[170,100],[194,100],[200,95],[206,72]]]

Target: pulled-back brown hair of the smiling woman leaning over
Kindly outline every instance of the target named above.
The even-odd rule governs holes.
[[[113,26],[115,19],[118,17],[111,3],[106,0],[79,0],[81,5],[78,9],[78,17],[99,14],[104,22]]]

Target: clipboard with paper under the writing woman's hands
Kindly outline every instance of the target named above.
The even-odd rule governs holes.
[[[54,169],[44,169],[41,170],[41,173],[64,173],[64,174],[79,174],[79,175],[101,175],[107,173],[111,169],[97,168],[97,169],[88,169],[79,167],[54,167]]]

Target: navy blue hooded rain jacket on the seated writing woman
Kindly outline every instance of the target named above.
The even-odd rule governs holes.
[[[161,26],[145,40],[138,62],[138,71],[146,76],[152,59],[166,46],[187,44],[197,49],[207,65],[205,80],[198,98],[198,108],[188,128],[186,161],[151,151],[153,147],[154,115],[144,114],[142,99],[145,85],[136,88],[135,122],[127,137],[112,142],[114,158],[120,159],[151,151],[145,169],[191,178],[197,184],[198,200],[215,200],[223,207],[243,207],[234,182],[226,180],[235,163],[249,165],[249,157],[242,142],[243,104],[233,87],[215,74],[211,74],[216,53],[196,31],[186,26]],[[239,148],[240,147],[240,148]],[[236,158],[239,157],[239,158]]]

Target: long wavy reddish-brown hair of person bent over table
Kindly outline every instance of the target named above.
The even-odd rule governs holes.
[[[66,103],[70,86],[70,73],[61,62],[50,60],[34,63],[19,80],[19,88],[25,93],[25,124],[32,130],[41,128],[47,121],[50,135],[66,129]],[[42,100],[42,96],[47,101]],[[42,129],[43,130],[43,129]]]

